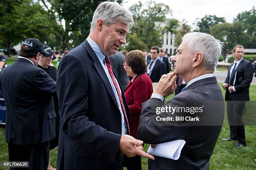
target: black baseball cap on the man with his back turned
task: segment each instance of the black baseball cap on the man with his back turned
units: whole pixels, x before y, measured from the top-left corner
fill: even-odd
[[[22,45],[27,45],[30,47],[30,50],[26,52],[43,53],[44,55],[50,54],[48,51],[44,50],[44,44],[36,38],[28,38],[25,41],[23,41]]]

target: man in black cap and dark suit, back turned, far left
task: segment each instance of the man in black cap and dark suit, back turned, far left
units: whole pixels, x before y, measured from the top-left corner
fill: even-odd
[[[50,55],[44,48],[38,39],[26,39],[17,60],[0,72],[9,161],[29,161],[31,170],[47,169],[50,140],[55,138],[56,81],[36,66]]]

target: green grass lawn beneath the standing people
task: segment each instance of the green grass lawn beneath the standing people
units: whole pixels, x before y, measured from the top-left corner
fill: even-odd
[[[9,62],[8,60],[7,62]],[[53,63],[56,66],[56,61],[53,61]],[[222,87],[222,83],[219,83],[219,85]],[[223,89],[222,92],[224,96],[225,91]],[[166,100],[173,96],[174,94],[166,97]],[[256,85],[251,85],[250,87],[250,99],[251,101],[256,101]],[[250,112],[256,114],[255,110]],[[227,125],[222,127],[214,152],[210,158],[210,170],[256,170],[256,162],[253,162],[253,159],[256,159],[256,126],[246,126],[245,130],[247,146],[235,148],[235,141],[227,142],[222,140],[222,138],[229,136],[229,127]],[[146,144],[144,150],[146,151],[148,147],[149,145]],[[53,167],[56,167],[56,160],[57,148],[52,150],[51,154],[50,161]],[[5,142],[5,129],[3,126],[0,127],[0,161],[8,161],[8,147]],[[147,160],[142,158],[142,169],[147,170],[147,167]],[[0,167],[0,170],[5,169]]]

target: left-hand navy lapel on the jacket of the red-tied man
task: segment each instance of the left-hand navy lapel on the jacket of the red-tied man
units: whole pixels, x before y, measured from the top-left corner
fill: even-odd
[[[98,72],[98,74],[100,75],[100,78],[102,79],[106,89],[108,90],[108,93],[110,94],[111,98],[113,99],[113,101],[115,102],[115,105],[118,107],[118,103],[115,99],[115,94],[113,92],[113,89],[110,85],[109,79],[107,74],[105,73],[105,70],[102,68],[102,65],[97,57],[97,55],[95,54],[95,52],[92,50],[92,47],[90,46],[90,44],[88,43],[87,40],[84,41],[84,43],[82,43],[82,46],[84,46],[84,48],[88,51],[88,53],[90,54],[90,56],[93,59],[93,65],[95,66],[96,71]],[[118,82],[119,83],[119,82]],[[119,84],[120,86],[120,84]]]

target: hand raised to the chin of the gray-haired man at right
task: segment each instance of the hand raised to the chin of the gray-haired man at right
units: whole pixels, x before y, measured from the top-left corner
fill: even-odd
[[[161,76],[158,84],[156,85],[156,93],[161,94],[164,97],[173,94],[176,89],[176,79],[178,78],[177,74],[168,73]]]

